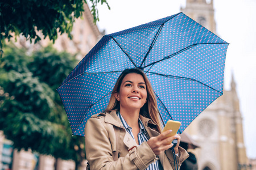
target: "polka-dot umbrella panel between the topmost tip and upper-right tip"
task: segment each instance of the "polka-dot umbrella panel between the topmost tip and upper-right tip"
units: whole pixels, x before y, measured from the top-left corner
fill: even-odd
[[[180,13],[162,27],[144,66],[172,57],[196,44],[226,43],[208,29]]]

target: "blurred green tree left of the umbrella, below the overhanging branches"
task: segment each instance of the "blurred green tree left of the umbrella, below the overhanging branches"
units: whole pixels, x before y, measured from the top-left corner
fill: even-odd
[[[84,138],[72,137],[56,88],[75,67],[75,56],[52,46],[33,52],[5,47],[0,64],[0,130],[18,150],[24,148],[73,159],[85,158]]]

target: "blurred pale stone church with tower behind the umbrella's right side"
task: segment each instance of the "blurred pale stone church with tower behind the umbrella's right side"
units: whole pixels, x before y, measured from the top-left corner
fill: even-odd
[[[216,34],[213,0],[187,0],[181,12]],[[200,145],[190,150],[199,170],[246,169],[242,116],[232,75],[230,90],[215,100],[185,129]]]

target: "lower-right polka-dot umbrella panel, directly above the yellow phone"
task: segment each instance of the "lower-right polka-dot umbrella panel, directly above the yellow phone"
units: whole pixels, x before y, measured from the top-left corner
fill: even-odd
[[[222,95],[192,79],[148,73],[163,121],[181,122],[180,133],[215,99]]]

